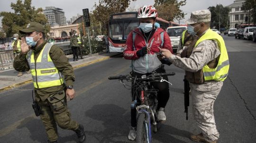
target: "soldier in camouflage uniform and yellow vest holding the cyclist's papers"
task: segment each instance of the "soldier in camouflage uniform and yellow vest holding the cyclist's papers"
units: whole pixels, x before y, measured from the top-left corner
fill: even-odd
[[[171,54],[162,49],[162,55],[175,66],[186,72],[186,79],[190,82],[193,115],[197,125],[201,128],[199,135],[191,135],[193,141],[217,143],[219,132],[213,115],[213,105],[223,81],[229,71],[228,53],[224,40],[210,30],[210,11],[198,10],[191,14],[188,33],[193,36],[187,45],[186,58]]]

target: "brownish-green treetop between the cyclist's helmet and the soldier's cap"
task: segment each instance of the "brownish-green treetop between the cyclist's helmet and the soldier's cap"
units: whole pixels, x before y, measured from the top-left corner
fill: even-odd
[[[155,8],[158,11],[158,17],[167,21],[184,18],[184,13],[180,9],[186,4],[186,0],[155,0]]]

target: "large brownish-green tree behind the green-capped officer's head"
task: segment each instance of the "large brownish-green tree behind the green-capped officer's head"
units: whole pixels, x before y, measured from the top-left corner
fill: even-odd
[[[2,28],[6,33],[6,37],[11,37],[12,34],[18,33],[19,29],[26,28],[31,21],[41,23],[46,26],[46,33],[50,31],[50,25],[46,25],[47,19],[43,14],[42,8],[35,8],[31,6],[31,0],[17,0],[16,3],[10,4],[13,12],[0,12],[2,18]]]

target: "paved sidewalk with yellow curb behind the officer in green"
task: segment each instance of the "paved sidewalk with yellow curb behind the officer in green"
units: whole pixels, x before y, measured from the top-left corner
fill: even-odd
[[[83,59],[79,59],[78,61],[73,61],[73,55],[68,55],[68,59],[73,68],[84,67],[102,60],[110,59],[112,56],[116,56],[120,53],[96,53],[92,54],[91,57],[83,56]],[[13,87],[27,84],[32,82],[31,74],[27,74],[27,72],[23,72],[23,76],[17,76],[18,71],[15,69],[9,69],[5,71],[0,71],[0,92],[4,90],[9,90]]]

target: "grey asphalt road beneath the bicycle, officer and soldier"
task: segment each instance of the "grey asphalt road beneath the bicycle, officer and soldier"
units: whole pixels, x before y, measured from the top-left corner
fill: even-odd
[[[230,70],[214,105],[218,143],[256,143],[256,42],[224,36],[229,51]],[[189,108],[183,113],[182,69],[166,67],[170,99],[167,121],[153,134],[153,143],[194,143],[189,135],[200,130]],[[130,91],[108,76],[126,75],[130,61],[121,56],[75,70],[76,98],[68,102],[72,118],[85,127],[86,143],[135,143],[128,141]],[[32,110],[32,84],[0,93],[0,143],[46,143],[40,118]],[[76,143],[73,131],[58,129],[59,143]]]

